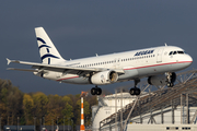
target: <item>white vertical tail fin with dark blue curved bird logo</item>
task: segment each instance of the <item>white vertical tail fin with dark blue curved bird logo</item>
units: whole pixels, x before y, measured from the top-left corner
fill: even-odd
[[[65,61],[43,27],[36,27],[35,33],[43,63],[54,64]]]

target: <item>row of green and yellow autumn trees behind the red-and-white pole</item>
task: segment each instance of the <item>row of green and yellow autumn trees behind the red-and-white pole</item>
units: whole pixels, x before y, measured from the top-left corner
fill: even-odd
[[[91,106],[96,105],[95,96],[84,97],[84,121],[90,124]],[[77,95],[45,95],[44,93],[22,93],[9,80],[0,80],[1,123],[18,124],[80,124],[81,99]],[[44,121],[45,120],[45,121]]]

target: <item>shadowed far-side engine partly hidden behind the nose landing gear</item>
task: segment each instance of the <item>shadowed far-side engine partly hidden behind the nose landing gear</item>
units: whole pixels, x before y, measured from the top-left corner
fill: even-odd
[[[176,73],[172,72],[171,83],[174,83],[175,81],[176,81]],[[148,83],[150,85],[157,85],[157,86],[166,85],[167,82],[169,82],[169,80],[165,74],[149,76],[149,79],[148,79]]]

